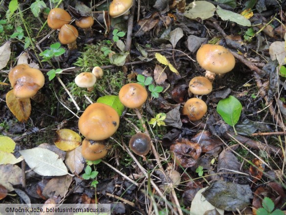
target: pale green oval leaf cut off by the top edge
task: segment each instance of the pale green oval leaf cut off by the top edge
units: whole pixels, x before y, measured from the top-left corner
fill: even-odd
[[[193,1],[185,7],[184,16],[189,19],[200,18],[202,20],[215,15],[216,6],[204,0]]]

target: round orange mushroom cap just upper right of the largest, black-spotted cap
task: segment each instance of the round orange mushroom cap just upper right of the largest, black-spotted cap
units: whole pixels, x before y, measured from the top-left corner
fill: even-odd
[[[125,84],[119,91],[119,100],[128,108],[140,108],[147,100],[148,93],[145,87],[138,83]]]

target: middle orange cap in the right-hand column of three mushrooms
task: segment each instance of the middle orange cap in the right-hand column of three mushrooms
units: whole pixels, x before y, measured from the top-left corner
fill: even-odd
[[[189,89],[192,94],[195,95],[206,95],[212,92],[213,84],[212,82],[203,76],[194,77],[190,80]]]

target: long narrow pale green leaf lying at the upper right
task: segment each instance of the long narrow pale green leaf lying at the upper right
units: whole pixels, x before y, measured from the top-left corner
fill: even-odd
[[[224,21],[229,20],[230,22],[234,22],[242,26],[251,26],[250,21],[244,18],[242,15],[229,10],[224,10],[219,5],[217,6],[217,14],[219,15],[220,19]]]

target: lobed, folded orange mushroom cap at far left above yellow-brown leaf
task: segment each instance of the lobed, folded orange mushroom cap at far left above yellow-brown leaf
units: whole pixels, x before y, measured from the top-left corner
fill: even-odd
[[[8,74],[13,87],[13,93],[18,98],[30,98],[35,96],[44,86],[44,75],[40,70],[29,67],[27,64],[19,64]]]

